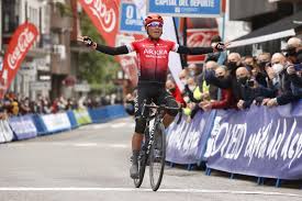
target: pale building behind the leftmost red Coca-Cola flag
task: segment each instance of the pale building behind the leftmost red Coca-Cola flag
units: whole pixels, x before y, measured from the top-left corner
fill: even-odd
[[[10,86],[10,91],[31,99],[38,94],[47,96],[51,91],[51,77],[41,80],[40,71],[49,71],[49,12],[47,0],[2,0],[2,44],[8,46],[12,34],[24,22],[33,23],[38,30],[38,37],[26,54],[25,59]],[[43,87],[40,87],[43,86]]]

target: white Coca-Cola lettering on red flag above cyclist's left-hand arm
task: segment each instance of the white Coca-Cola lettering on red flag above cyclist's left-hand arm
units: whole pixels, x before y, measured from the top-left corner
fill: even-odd
[[[105,32],[110,33],[114,30],[118,16],[113,8],[108,8],[103,0],[85,0],[83,2],[89,5]]]

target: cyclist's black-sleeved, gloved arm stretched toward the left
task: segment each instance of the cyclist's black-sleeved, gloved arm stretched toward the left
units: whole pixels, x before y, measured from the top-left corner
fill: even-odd
[[[82,42],[86,46],[91,47],[98,52],[108,54],[108,55],[123,55],[130,53],[126,45],[119,47],[110,47],[107,45],[97,44],[88,36],[78,37],[78,41]]]

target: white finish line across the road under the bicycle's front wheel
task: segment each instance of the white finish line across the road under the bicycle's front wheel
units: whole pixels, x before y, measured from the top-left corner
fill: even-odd
[[[135,188],[33,188],[33,187],[1,187],[0,191],[114,191],[114,192],[150,192],[152,189]],[[228,193],[228,194],[261,194],[261,196],[284,196],[302,198],[301,194],[281,193],[270,191],[232,191],[232,190],[206,190],[206,189],[159,189],[158,192],[176,193]]]

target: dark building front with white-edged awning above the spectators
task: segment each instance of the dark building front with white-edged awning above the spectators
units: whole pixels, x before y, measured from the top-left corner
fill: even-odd
[[[280,52],[290,36],[302,32],[301,0],[230,0],[230,20],[246,21],[250,33],[237,38],[233,51],[243,55]]]

